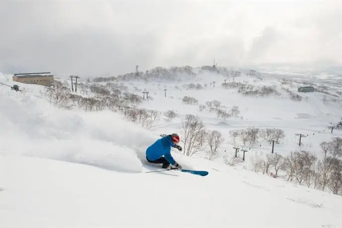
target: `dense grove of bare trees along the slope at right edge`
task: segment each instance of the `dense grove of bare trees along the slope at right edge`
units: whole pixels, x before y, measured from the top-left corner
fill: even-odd
[[[252,158],[252,167],[254,171],[267,173],[270,166],[273,166],[275,175],[278,170],[284,170],[288,181],[323,191],[329,188],[333,194],[342,194],[341,145],[339,138],[321,143],[324,158],[319,161],[309,151],[295,151],[286,158],[278,154],[268,155],[266,161]]]

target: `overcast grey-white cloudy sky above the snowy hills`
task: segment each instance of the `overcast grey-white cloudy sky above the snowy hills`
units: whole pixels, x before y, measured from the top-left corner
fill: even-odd
[[[1,0],[0,72],[342,63],[342,2]]]

